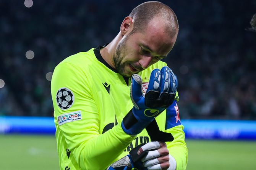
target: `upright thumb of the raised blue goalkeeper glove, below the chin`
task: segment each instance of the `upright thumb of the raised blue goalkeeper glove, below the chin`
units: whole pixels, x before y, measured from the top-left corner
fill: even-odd
[[[136,102],[138,102],[142,96],[142,91],[141,91],[141,76],[134,74],[131,77],[131,91],[130,91],[130,97],[131,101],[133,102],[133,105],[135,106],[136,109],[139,109],[138,105]]]

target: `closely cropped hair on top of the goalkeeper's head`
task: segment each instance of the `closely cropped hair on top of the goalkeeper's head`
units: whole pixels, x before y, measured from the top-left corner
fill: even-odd
[[[149,21],[154,17],[162,17],[166,20],[167,31],[173,34],[173,30],[178,32],[178,19],[173,10],[162,2],[149,1],[144,2],[134,8],[129,16],[133,19],[133,30],[131,34],[135,32],[143,32]]]

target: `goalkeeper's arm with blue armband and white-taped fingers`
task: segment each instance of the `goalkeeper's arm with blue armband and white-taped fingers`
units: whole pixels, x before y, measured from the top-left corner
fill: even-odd
[[[143,157],[141,161],[143,162],[144,167],[147,167],[148,170],[186,169],[188,160],[188,150],[186,148],[183,126],[180,123],[177,100],[175,100],[173,104],[169,106],[169,108],[167,108],[166,120],[167,130],[165,130],[165,132],[172,133],[174,140],[167,140],[171,142],[166,142],[165,144],[164,142],[161,142],[159,136],[153,134],[156,135],[155,138],[158,138],[158,141],[147,143],[146,145],[143,145],[141,146],[141,148],[139,148],[138,154],[145,153],[145,151],[147,151],[146,156]],[[152,128],[150,130],[154,131],[154,129]]]

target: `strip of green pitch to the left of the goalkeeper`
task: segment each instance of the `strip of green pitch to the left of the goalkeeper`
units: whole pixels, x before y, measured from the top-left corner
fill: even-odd
[[[1,170],[58,170],[55,136],[0,135]]]

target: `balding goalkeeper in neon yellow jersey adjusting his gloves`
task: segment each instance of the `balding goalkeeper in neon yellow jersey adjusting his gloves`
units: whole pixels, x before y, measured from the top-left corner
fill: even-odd
[[[171,8],[145,2],[125,17],[112,42],[57,65],[51,94],[61,170],[186,168],[177,77],[160,61],[177,34]],[[129,155],[136,146],[139,168]]]

